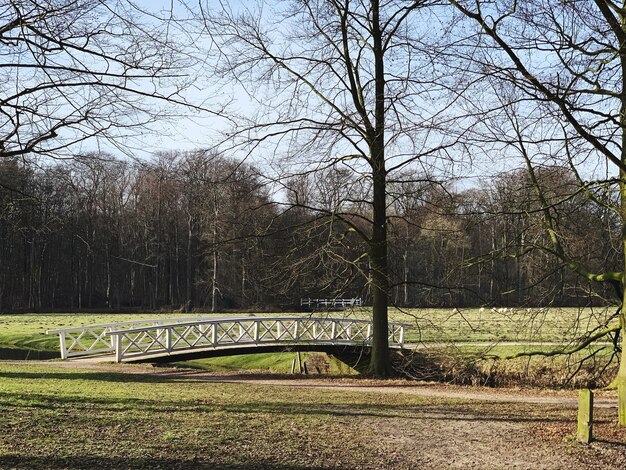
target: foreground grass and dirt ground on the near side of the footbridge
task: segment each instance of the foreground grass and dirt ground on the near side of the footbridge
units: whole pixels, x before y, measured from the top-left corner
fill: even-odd
[[[568,437],[575,409],[558,404],[384,392],[393,382],[377,392],[358,390],[358,382],[357,389],[342,391],[341,382],[260,385],[145,366],[106,367],[0,363],[0,468],[626,464],[619,444],[626,436],[611,424],[614,410],[598,410],[602,441],[586,447]],[[402,382],[399,387],[406,390]]]

